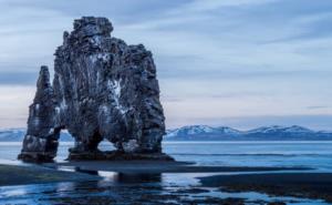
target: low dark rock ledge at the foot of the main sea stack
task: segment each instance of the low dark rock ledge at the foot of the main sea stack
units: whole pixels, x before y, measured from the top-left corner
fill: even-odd
[[[165,153],[71,152],[68,161],[175,161]]]

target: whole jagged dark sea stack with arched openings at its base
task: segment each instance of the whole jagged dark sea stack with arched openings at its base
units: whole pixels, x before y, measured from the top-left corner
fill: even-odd
[[[165,117],[152,53],[111,37],[106,18],[83,17],[42,66],[19,158],[52,161],[61,130],[75,139],[70,160],[162,158]],[[102,153],[107,140],[116,152]]]

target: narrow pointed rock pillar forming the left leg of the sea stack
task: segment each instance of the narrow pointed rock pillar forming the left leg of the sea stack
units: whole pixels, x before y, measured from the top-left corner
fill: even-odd
[[[48,162],[55,157],[60,130],[55,131],[54,127],[54,105],[49,69],[41,66],[37,93],[29,110],[28,132],[19,158]]]

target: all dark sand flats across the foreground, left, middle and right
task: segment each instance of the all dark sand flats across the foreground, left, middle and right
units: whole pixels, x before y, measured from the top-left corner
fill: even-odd
[[[76,172],[64,172],[68,167],[74,167]],[[259,192],[274,196],[294,196],[302,198],[325,199],[332,202],[332,174],[330,173],[300,173],[308,171],[305,167],[245,167],[245,166],[198,166],[185,162],[152,162],[152,161],[132,161],[132,162],[66,162],[50,163],[41,165],[0,165],[0,186],[8,185],[28,185],[58,182],[97,182],[102,177],[95,175],[97,171],[137,174],[158,174],[162,173],[210,173],[211,176],[199,177],[200,185],[179,188],[167,194],[155,195],[154,192],[146,192],[139,199],[144,203],[163,202],[164,199],[175,199],[180,203],[196,204],[245,204],[246,198],[219,198],[205,196],[204,199],[191,198],[184,199],[183,196],[209,192],[206,188],[217,187],[217,192]],[[269,171],[293,171],[299,173],[273,173],[259,174],[259,172]],[[92,174],[84,174],[84,173]],[[255,172],[256,174],[248,174]],[[226,175],[219,175],[225,173]],[[243,173],[243,174],[241,174]],[[141,174],[141,175],[139,175]],[[231,174],[231,175],[229,175]],[[151,178],[149,178],[151,180]],[[129,181],[132,182],[132,181]],[[137,185],[138,186],[138,185]],[[139,185],[141,186],[141,185]],[[125,188],[126,186],[123,186]],[[95,192],[105,192],[105,188],[95,189]],[[107,187],[107,188],[112,188]],[[117,187],[118,188],[118,187]],[[146,187],[148,188],[148,187]],[[139,188],[138,188],[139,189]],[[143,192],[143,191],[142,191]],[[133,195],[135,196],[135,195]],[[104,197],[104,199],[102,199]],[[108,202],[110,197],[92,197],[91,202]],[[154,198],[155,197],[155,198]],[[59,197],[61,202],[74,203],[73,198]],[[85,197],[75,201],[86,202]],[[102,201],[101,201],[102,199]],[[113,198],[114,199],[114,198]],[[113,201],[112,202],[116,202]],[[111,203],[111,201],[110,201]],[[266,203],[264,201],[257,203]],[[282,204],[282,202],[280,201]],[[167,204],[167,203],[166,203]],[[266,203],[268,204],[268,203]]]

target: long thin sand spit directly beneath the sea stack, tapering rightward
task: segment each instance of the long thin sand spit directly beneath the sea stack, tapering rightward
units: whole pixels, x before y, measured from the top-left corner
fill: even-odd
[[[220,173],[220,172],[267,172],[267,171],[308,171],[308,167],[247,167],[247,166],[200,166],[188,162],[160,161],[82,161],[44,164],[48,167],[75,167],[86,171],[120,173]]]

